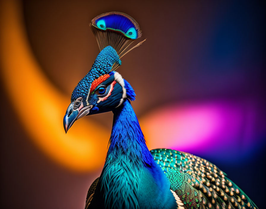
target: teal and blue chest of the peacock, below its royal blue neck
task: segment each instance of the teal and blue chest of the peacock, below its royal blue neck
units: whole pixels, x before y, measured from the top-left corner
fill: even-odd
[[[170,182],[156,164],[139,169],[121,162],[110,165],[102,176],[90,208],[94,203],[99,208],[99,202],[102,208],[177,208]]]

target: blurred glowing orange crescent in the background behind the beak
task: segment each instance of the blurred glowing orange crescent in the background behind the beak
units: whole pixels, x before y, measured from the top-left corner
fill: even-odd
[[[51,159],[76,171],[102,167],[110,133],[93,121],[79,120],[65,134],[63,117],[70,95],[50,83],[37,63],[19,1],[1,1],[2,82],[30,138]],[[86,136],[86,137],[84,137]]]

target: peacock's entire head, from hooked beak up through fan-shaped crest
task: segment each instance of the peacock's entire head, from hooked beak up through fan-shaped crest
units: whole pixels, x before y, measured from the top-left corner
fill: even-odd
[[[145,41],[132,44],[141,37],[139,25],[129,15],[108,12],[91,20],[90,27],[101,51],[72,93],[64,116],[66,132],[77,119],[113,111],[125,99],[135,99],[133,88],[115,70],[121,65],[122,56]]]

